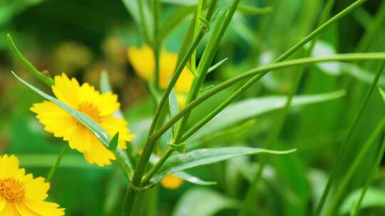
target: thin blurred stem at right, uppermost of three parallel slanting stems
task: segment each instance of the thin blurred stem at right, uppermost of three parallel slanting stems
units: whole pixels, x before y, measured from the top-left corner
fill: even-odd
[[[383,69],[384,69],[384,63],[381,63],[379,70],[377,70],[376,76],[374,77],[373,82],[371,82],[371,86],[369,87],[368,92],[366,92],[364,100],[361,103],[361,106],[359,107],[359,111],[357,112],[356,117],[354,118],[354,121],[349,128],[349,132],[346,138],[344,139],[342,146],[339,148],[339,152],[336,157],[337,161],[335,161],[333,165],[332,173],[330,174],[329,179],[327,180],[327,185],[324,189],[324,192],[322,193],[321,200],[319,200],[319,204],[314,212],[314,215],[319,215],[321,213],[321,210],[324,206],[324,202],[327,199],[327,195],[329,195],[330,189],[332,189],[332,183],[334,182],[336,175],[339,171],[339,166],[341,164],[339,162],[344,161],[345,151],[347,151],[346,149],[351,139],[351,136],[353,135],[354,129],[356,129],[356,125],[358,124],[358,121],[362,113],[364,112],[364,108],[366,107],[366,104],[369,101],[369,98],[371,97],[371,93],[374,91],[374,88],[376,87],[377,82],[379,82],[379,77],[381,77],[381,73]]]

